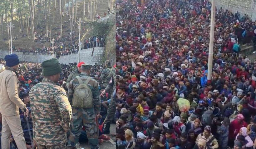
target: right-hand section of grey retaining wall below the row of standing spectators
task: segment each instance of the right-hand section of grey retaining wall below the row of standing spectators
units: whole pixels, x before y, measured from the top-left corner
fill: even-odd
[[[103,47],[95,47],[93,56],[91,56],[92,49],[83,49],[80,52],[80,61],[83,61],[87,64],[94,65],[95,63],[97,64],[102,64],[104,62],[104,54],[105,50]],[[60,56],[59,58],[59,63],[60,64],[68,64],[68,63],[74,63],[78,62],[78,54],[69,54],[66,56]]]

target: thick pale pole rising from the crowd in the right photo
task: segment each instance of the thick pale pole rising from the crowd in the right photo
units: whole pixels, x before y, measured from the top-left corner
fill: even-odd
[[[213,59],[213,41],[214,41],[214,24],[215,24],[215,3],[212,0],[211,8],[211,29],[210,29],[210,43],[209,43],[209,55],[208,55],[208,74],[207,82],[211,82],[212,79],[212,59]]]

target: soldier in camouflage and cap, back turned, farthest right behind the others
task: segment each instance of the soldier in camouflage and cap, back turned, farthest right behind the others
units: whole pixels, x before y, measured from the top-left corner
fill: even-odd
[[[102,71],[100,78],[103,82],[103,86],[106,88],[109,84],[109,81],[112,75],[116,72],[116,70],[111,66],[108,60],[106,61],[105,65],[106,65],[106,68]],[[109,93],[111,94],[112,90],[110,90]]]

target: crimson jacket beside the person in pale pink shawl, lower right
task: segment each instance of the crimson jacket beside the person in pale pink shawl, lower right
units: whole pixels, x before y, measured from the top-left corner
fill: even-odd
[[[229,125],[229,139],[235,139],[242,127],[247,127],[247,123],[245,121],[242,123],[239,123],[237,119],[232,121]]]

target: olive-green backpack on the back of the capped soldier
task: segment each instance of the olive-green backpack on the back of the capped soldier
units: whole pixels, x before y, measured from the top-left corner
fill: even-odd
[[[93,108],[91,88],[87,85],[92,78],[87,76],[84,83],[79,76],[77,76],[76,79],[78,80],[79,85],[74,90],[72,106],[81,109]]]

